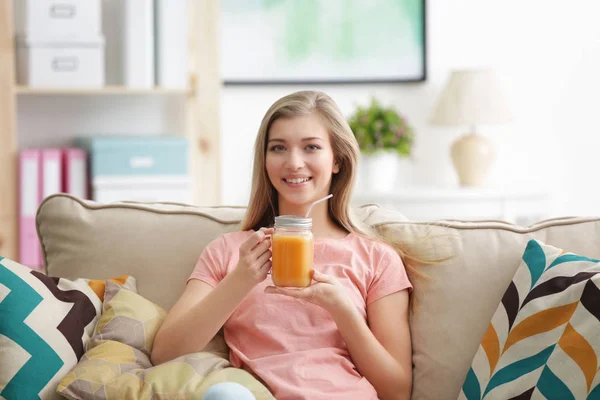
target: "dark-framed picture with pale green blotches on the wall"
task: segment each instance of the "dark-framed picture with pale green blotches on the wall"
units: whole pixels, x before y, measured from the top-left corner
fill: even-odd
[[[418,82],[425,0],[221,0],[225,84]]]

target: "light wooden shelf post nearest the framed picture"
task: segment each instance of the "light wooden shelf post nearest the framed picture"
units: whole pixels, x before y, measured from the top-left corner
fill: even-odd
[[[220,205],[219,0],[188,0],[191,92],[186,136],[191,146],[194,204]]]

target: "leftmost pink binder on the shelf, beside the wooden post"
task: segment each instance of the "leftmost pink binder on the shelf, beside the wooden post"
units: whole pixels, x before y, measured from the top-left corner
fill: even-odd
[[[42,254],[35,215],[40,201],[40,165],[38,150],[19,153],[19,262],[38,269],[42,267]]]

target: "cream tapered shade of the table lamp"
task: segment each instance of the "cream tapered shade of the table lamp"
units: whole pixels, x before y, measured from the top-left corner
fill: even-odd
[[[509,122],[510,112],[492,70],[456,70],[434,110],[434,125],[493,125]]]

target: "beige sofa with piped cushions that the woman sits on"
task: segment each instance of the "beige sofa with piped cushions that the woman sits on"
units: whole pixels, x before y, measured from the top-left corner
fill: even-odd
[[[356,209],[383,234],[425,258],[448,260],[411,276],[415,307],[413,399],[456,399],[479,342],[529,239],[600,258],[600,218],[562,218],[520,227],[499,221],[409,222],[376,205]],[[102,205],[68,195],[46,199],[37,215],[52,276],[109,278],[124,273],[140,294],[169,308],[204,246],[239,228],[243,208],[177,204]],[[208,351],[225,351],[221,337]]]

